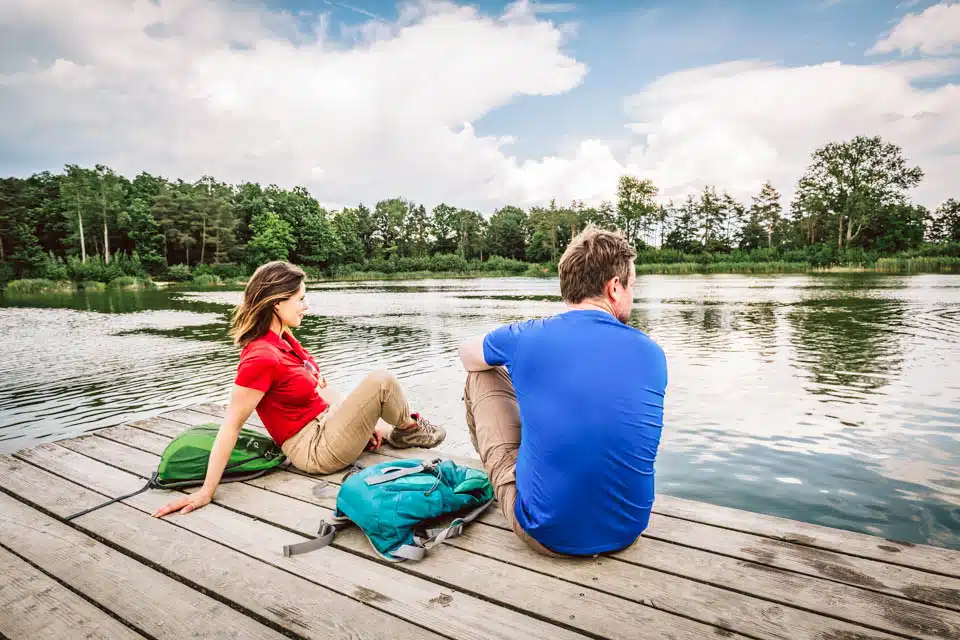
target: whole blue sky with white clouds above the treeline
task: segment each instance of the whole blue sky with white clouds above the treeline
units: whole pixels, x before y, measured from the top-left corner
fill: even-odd
[[[0,175],[106,164],[489,215],[715,185],[786,205],[880,135],[960,197],[960,2],[4,0]]]

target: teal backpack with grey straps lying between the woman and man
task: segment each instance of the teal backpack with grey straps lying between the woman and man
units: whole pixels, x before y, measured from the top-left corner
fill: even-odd
[[[390,460],[366,469],[354,465],[337,494],[333,524],[321,522],[316,538],[284,545],[283,555],[325,547],[339,526],[352,522],[384,560],[422,560],[430,549],[460,535],[492,502],[487,474],[450,460]],[[450,517],[452,522],[440,526]]]

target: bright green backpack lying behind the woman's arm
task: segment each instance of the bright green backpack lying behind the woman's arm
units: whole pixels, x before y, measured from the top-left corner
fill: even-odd
[[[217,423],[207,422],[186,429],[164,449],[160,455],[160,464],[147,480],[147,484],[133,493],[113,498],[68,516],[66,519],[71,520],[114,502],[132,498],[147,489],[177,489],[202,485],[207,475],[210,451],[213,449],[219,428]],[[250,480],[279,467],[285,461],[286,457],[280,446],[266,432],[243,427],[240,429],[237,443],[230,452],[230,459],[223,470],[220,482]]]

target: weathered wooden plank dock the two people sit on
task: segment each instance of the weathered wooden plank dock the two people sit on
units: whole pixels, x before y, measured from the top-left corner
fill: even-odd
[[[378,561],[355,528],[284,557],[335,504],[292,470],[186,516],[152,518],[171,494],[151,490],[65,520],[142,486],[173,436],[223,410],[0,456],[0,635],[960,639],[960,552],[662,495],[640,541],[576,560],[529,551],[496,509],[419,563]],[[399,455],[434,454],[365,458]]]

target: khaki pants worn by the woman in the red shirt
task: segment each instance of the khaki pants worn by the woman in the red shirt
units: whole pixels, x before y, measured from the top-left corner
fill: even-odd
[[[301,471],[334,473],[360,457],[381,418],[393,426],[405,425],[410,407],[397,379],[374,371],[343,402],[308,422],[280,448]]]

